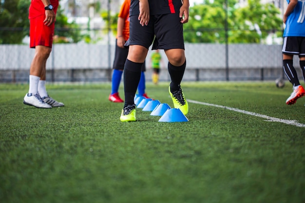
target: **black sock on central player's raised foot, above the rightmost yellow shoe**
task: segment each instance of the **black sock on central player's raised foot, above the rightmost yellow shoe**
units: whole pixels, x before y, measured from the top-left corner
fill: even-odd
[[[169,74],[171,76],[171,92],[176,92],[180,90],[180,83],[182,81],[185,67],[186,67],[187,61],[182,64],[182,66],[173,66],[170,62],[168,64],[168,70]]]

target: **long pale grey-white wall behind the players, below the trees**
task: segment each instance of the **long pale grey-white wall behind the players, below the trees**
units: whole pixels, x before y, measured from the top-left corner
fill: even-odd
[[[185,44],[185,48],[187,68],[226,68],[224,44]],[[230,44],[228,50],[229,68],[282,68],[281,45]],[[166,55],[160,53],[167,64]],[[28,45],[0,45],[0,70],[29,70],[34,54]],[[109,69],[113,60],[114,45],[55,44],[47,69]]]

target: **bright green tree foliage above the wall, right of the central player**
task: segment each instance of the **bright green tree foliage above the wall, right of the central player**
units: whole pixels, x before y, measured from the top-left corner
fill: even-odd
[[[206,0],[190,8],[185,41],[225,43],[227,22],[229,43],[259,43],[280,28],[279,13],[273,4],[257,0],[248,0],[246,7],[238,7],[237,0]]]

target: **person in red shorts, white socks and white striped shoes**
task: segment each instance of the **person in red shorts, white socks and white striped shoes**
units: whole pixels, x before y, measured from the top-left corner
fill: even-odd
[[[30,47],[35,55],[30,67],[29,92],[23,103],[37,108],[62,107],[46,91],[46,62],[52,51],[58,0],[31,0],[29,7]]]

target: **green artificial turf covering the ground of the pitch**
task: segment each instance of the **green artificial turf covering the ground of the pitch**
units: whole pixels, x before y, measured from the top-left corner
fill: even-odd
[[[182,88],[190,100],[305,124],[305,99],[285,104],[287,82]],[[191,102],[189,122],[136,109],[122,123],[110,83],[47,84],[65,104],[52,109],[22,104],[27,90],[0,84],[1,203],[305,202],[305,127]],[[173,107],[168,83],[147,93]]]

